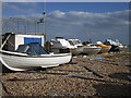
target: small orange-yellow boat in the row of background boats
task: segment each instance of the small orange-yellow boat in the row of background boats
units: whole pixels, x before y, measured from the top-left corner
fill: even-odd
[[[97,45],[95,45],[95,46],[102,47],[102,50],[99,51],[100,53],[106,53],[106,52],[108,52],[108,51],[110,50],[110,48],[111,48],[111,46],[106,46],[106,45],[104,45],[102,41],[97,41],[96,44],[97,44]]]

